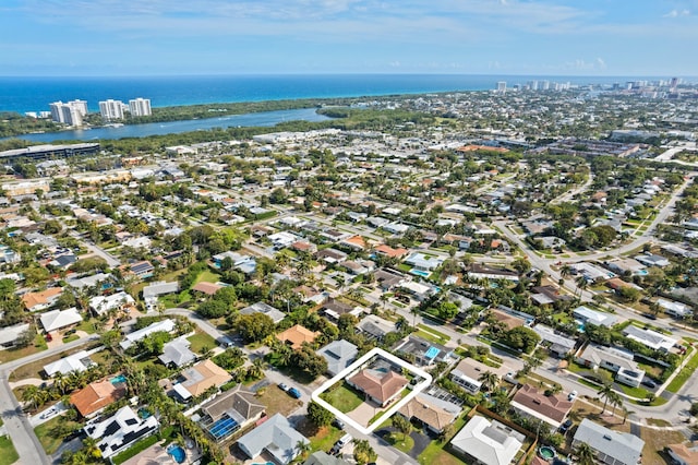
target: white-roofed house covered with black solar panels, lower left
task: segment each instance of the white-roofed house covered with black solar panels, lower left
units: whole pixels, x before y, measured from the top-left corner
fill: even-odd
[[[143,438],[155,433],[158,429],[155,416],[141,418],[130,406],[121,407],[117,413],[99,421],[89,421],[83,430],[97,441],[103,458],[125,450]]]

